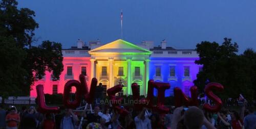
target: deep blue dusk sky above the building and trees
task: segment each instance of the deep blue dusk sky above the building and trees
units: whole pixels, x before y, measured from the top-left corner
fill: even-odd
[[[168,46],[193,49],[201,41],[223,42],[232,38],[239,53],[256,50],[255,0],[19,0],[19,8],[35,11],[39,28],[35,37],[60,42],[63,48],[77,39],[99,39],[108,43],[121,37],[120,10],[123,10],[123,39],[135,44],[142,40],[166,39]]]

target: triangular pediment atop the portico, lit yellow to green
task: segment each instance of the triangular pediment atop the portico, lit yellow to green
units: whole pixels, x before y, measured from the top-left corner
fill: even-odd
[[[144,49],[122,39],[118,39],[89,51],[89,54],[150,55],[151,53],[152,52],[150,50]]]

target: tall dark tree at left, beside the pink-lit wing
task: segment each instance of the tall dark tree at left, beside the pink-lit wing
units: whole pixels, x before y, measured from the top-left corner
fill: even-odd
[[[17,9],[15,0],[0,3],[0,95],[29,95],[30,86],[52,72],[52,79],[58,80],[62,65],[61,44],[43,41],[33,46],[34,30],[38,23],[34,11]],[[2,83],[3,82],[3,83]]]

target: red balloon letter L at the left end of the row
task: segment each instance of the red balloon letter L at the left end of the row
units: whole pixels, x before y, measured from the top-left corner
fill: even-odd
[[[59,107],[48,107],[45,102],[44,86],[36,86],[38,111],[40,113],[58,113]]]

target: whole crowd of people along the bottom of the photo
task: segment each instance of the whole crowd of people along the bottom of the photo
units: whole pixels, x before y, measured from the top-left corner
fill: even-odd
[[[159,114],[152,109],[140,111],[129,108],[129,114],[122,116],[111,107],[95,106],[93,112],[85,109],[74,112],[62,110],[59,114],[41,114],[35,107],[17,111],[11,106],[4,110],[0,106],[0,129],[77,129],[77,128],[187,128],[187,129],[252,129],[256,128],[256,113],[253,107],[242,106],[240,113],[222,109],[217,113],[206,112],[198,107],[170,107],[167,114]],[[81,118],[83,117],[83,120]]]

